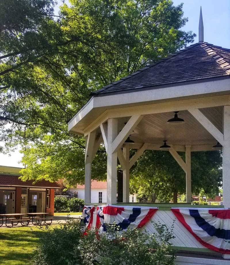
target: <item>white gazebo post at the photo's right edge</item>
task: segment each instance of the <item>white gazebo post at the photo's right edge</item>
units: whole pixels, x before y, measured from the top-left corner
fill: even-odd
[[[230,207],[230,106],[224,106],[223,204]]]

